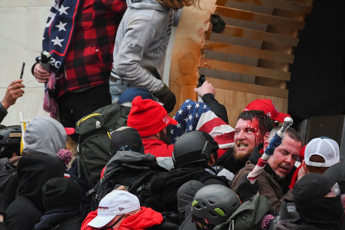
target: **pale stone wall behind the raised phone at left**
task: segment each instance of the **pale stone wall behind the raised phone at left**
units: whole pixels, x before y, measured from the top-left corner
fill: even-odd
[[[25,94],[1,124],[19,124],[19,112],[32,120],[36,116],[49,116],[43,111],[43,84],[31,74],[31,66],[40,55],[43,30],[52,2],[49,0],[0,1],[0,100],[8,84],[19,79],[22,62],[26,63],[23,83]]]

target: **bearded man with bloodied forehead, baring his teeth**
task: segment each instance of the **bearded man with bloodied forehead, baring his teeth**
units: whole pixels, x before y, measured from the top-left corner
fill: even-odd
[[[267,140],[272,129],[272,120],[261,110],[240,113],[235,126],[235,146],[224,154],[229,156],[224,168],[236,174],[245,166],[254,148]]]

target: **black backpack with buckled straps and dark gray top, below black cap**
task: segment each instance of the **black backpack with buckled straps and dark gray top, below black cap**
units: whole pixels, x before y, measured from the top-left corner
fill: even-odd
[[[103,197],[121,185],[136,195],[141,206],[155,208],[150,202],[150,182],[168,173],[158,165],[155,156],[131,151],[120,151],[107,163],[104,176],[87,192],[91,210],[96,210]]]

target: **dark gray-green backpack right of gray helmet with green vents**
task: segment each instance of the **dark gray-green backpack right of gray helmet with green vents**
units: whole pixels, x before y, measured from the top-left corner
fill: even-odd
[[[272,212],[271,204],[266,197],[255,195],[241,206],[214,230],[256,230],[264,216]]]

